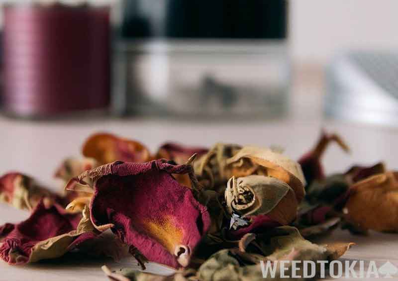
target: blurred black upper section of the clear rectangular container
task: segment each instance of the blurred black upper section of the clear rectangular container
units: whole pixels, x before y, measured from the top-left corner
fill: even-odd
[[[283,39],[286,0],[124,0],[124,38]]]

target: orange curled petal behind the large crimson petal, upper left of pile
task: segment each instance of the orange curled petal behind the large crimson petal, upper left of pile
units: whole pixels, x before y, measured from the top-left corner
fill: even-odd
[[[83,155],[94,158],[100,165],[116,160],[142,163],[152,159],[142,143],[106,133],[90,136],[83,145]]]

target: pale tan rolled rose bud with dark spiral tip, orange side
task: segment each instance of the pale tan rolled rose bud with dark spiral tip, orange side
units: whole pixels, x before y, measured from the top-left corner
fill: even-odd
[[[278,179],[265,176],[232,177],[225,189],[227,212],[248,219],[248,225],[230,231],[234,238],[268,227],[287,225],[297,215],[294,190]]]

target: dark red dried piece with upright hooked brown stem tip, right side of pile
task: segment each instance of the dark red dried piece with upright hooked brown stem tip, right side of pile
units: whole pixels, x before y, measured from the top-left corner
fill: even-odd
[[[349,147],[339,135],[327,134],[322,131],[315,147],[298,160],[307,185],[311,184],[313,180],[322,180],[325,177],[320,159],[331,142],[336,142],[345,152],[350,151]]]

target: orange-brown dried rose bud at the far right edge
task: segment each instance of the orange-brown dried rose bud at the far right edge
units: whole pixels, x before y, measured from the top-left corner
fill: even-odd
[[[398,172],[357,182],[343,209],[349,222],[361,229],[398,231]]]

